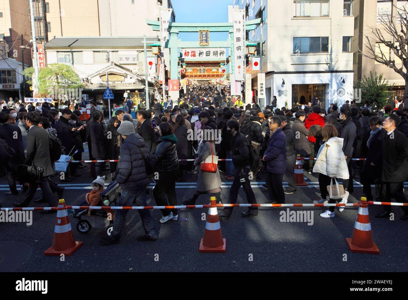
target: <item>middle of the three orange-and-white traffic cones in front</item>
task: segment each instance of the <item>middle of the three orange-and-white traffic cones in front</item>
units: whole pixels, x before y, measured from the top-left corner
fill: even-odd
[[[210,199],[207,221],[205,223],[204,238],[201,239],[201,253],[225,253],[225,238],[222,238],[220,220],[218,219],[215,197]]]

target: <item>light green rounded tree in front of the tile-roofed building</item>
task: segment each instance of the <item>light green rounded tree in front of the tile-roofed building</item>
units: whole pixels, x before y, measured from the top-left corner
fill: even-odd
[[[80,89],[84,87],[81,79],[69,64],[49,64],[38,74],[40,90],[38,93],[50,93],[58,89]],[[55,95],[56,97],[56,95]],[[61,99],[58,97],[58,106]]]

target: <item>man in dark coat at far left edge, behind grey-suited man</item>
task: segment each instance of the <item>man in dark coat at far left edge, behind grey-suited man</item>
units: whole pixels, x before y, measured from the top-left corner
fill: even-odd
[[[16,187],[17,166],[23,164],[25,160],[24,147],[22,142],[22,134],[20,127],[7,123],[9,116],[7,113],[0,112],[0,139],[5,140],[15,154],[10,158],[6,166],[7,182],[9,183],[10,191],[6,195],[18,195]],[[23,191],[27,191],[28,185],[23,185]]]

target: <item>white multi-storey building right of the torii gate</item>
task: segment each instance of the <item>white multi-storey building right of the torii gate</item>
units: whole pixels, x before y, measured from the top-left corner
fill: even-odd
[[[342,105],[352,100],[352,2],[234,1],[246,10],[248,20],[262,18],[264,22],[249,31],[246,39],[264,41],[259,45],[263,47],[262,73],[266,74],[265,104],[276,96],[278,108],[291,108],[319,96],[327,109],[330,103]],[[256,73],[252,74],[252,87],[257,89]]]

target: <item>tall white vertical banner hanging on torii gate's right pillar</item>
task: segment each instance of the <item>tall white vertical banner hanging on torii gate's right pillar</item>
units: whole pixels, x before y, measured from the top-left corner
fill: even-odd
[[[234,74],[235,80],[244,80],[245,73],[245,19],[244,9],[233,11]]]

